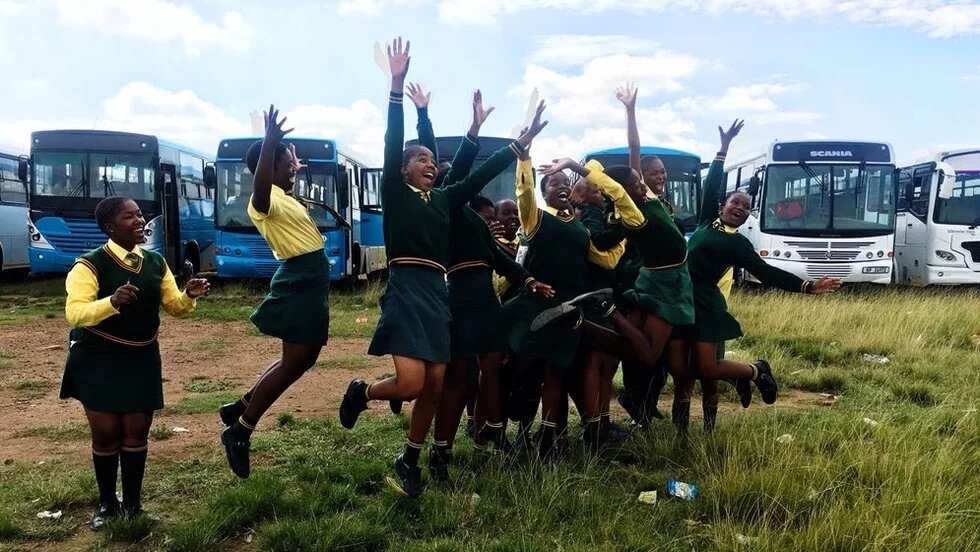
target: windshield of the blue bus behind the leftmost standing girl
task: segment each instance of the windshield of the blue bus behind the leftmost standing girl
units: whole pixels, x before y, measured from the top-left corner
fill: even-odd
[[[126,196],[156,199],[153,157],[149,154],[34,154],[34,195],[51,197]]]

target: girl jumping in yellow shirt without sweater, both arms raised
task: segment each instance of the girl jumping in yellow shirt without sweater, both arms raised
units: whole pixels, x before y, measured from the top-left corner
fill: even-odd
[[[309,210],[291,195],[301,165],[295,149],[283,143],[293,129],[283,130],[285,117],[270,105],[265,136],[245,154],[253,174],[248,216],[282,264],[272,276],[269,294],[251,315],[265,335],[282,340],[282,356],[238,401],[221,407],[227,426],[221,434],[228,465],[247,478],[252,431],[266,410],[306,373],[327,343],[330,326],[330,264],[323,236]]]

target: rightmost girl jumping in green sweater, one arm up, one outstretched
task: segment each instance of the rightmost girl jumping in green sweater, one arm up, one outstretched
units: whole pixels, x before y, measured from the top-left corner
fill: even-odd
[[[728,312],[725,295],[719,287],[719,281],[727,271],[742,268],[764,285],[813,295],[836,291],[841,285],[839,278],[804,281],[766,263],[748,238],[736,232],[749,216],[748,195],[731,192],[719,205],[725,180],[725,156],[732,139],[742,130],[742,125],[742,121],[736,120],[727,131],[718,127],[721,149],[704,180],[700,219],[688,244],[695,321],[694,324],[674,329],[667,355],[670,372],[674,375],[673,418],[682,432],[686,431],[690,419],[691,389],[695,375],[702,380],[734,379],[742,406],[748,406],[751,400],[752,386],[749,382],[755,383],[763,402],[776,402],[777,385],[768,362],[758,360],[749,365],[720,360],[719,344],[742,335],[742,328]],[[715,409],[716,413],[717,405]]]

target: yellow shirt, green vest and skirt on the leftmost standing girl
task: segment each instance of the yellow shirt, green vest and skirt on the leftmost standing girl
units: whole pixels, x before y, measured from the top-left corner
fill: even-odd
[[[138,299],[116,309],[110,298],[127,282],[139,288]],[[177,288],[164,258],[109,240],[75,260],[65,287],[72,329],[60,397],[100,412],[163,408],[160,307],[179,316],[197,304]]]

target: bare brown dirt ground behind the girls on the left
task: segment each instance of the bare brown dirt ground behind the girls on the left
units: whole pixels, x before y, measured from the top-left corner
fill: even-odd
[[[247,321],[214,322],[208,320],[176,320],[163,318],[160,331],[163,356],[164,398],[174,404],[181,398],[196,395],[184,389],[194,377],[234,384],[229,393],[244,392],[264,367],[278,357],[277,341],[250,332]],[[0,343],[12,354],[0,370],[0,461],[26,460],[41,462],[59,459],[67,463],[87,463],[88,444],[85,439],[52,440],[44,437],[15,437],[18,430],[52,426],[84,420],[81,405],[74,400],[58,398],[67,347],[68,325],[63,319],[44,320],[31,326],[0,327]],[[331,339],[320,359],[362,357],[369,359],[367,368],[317,368],[307,373],[275,404],[262,425],[274,423],[281,412],[297,417],[336,416],[336,409],[347,383],[353,377],[367,380],[392,371],[390,360],[365,355],[365,339]],[[364,366],[363,364],[361,366]],[[18,383],[42,380],[45,386],[17,389]],[[814,393],[787,391],[781,393],[777,408],[812,408],[821,397]],[[669,412],[668,397],[661,398],[661,411]],[[735,405],[722,404],[722,410],[735,410]],[[379,410],[380,411],[380,410]],[[700,408],[692,408],[694,416]],[[626,415],[613,401],[613,416]],[[154,460],[181,457],[183,451],[202,442],[218,447],[221,430],[216,413],[175,415],[158,413],[154,427],[186,428],[165,442],[151,446]],[[259,431],[262,430],[260,425]]]

